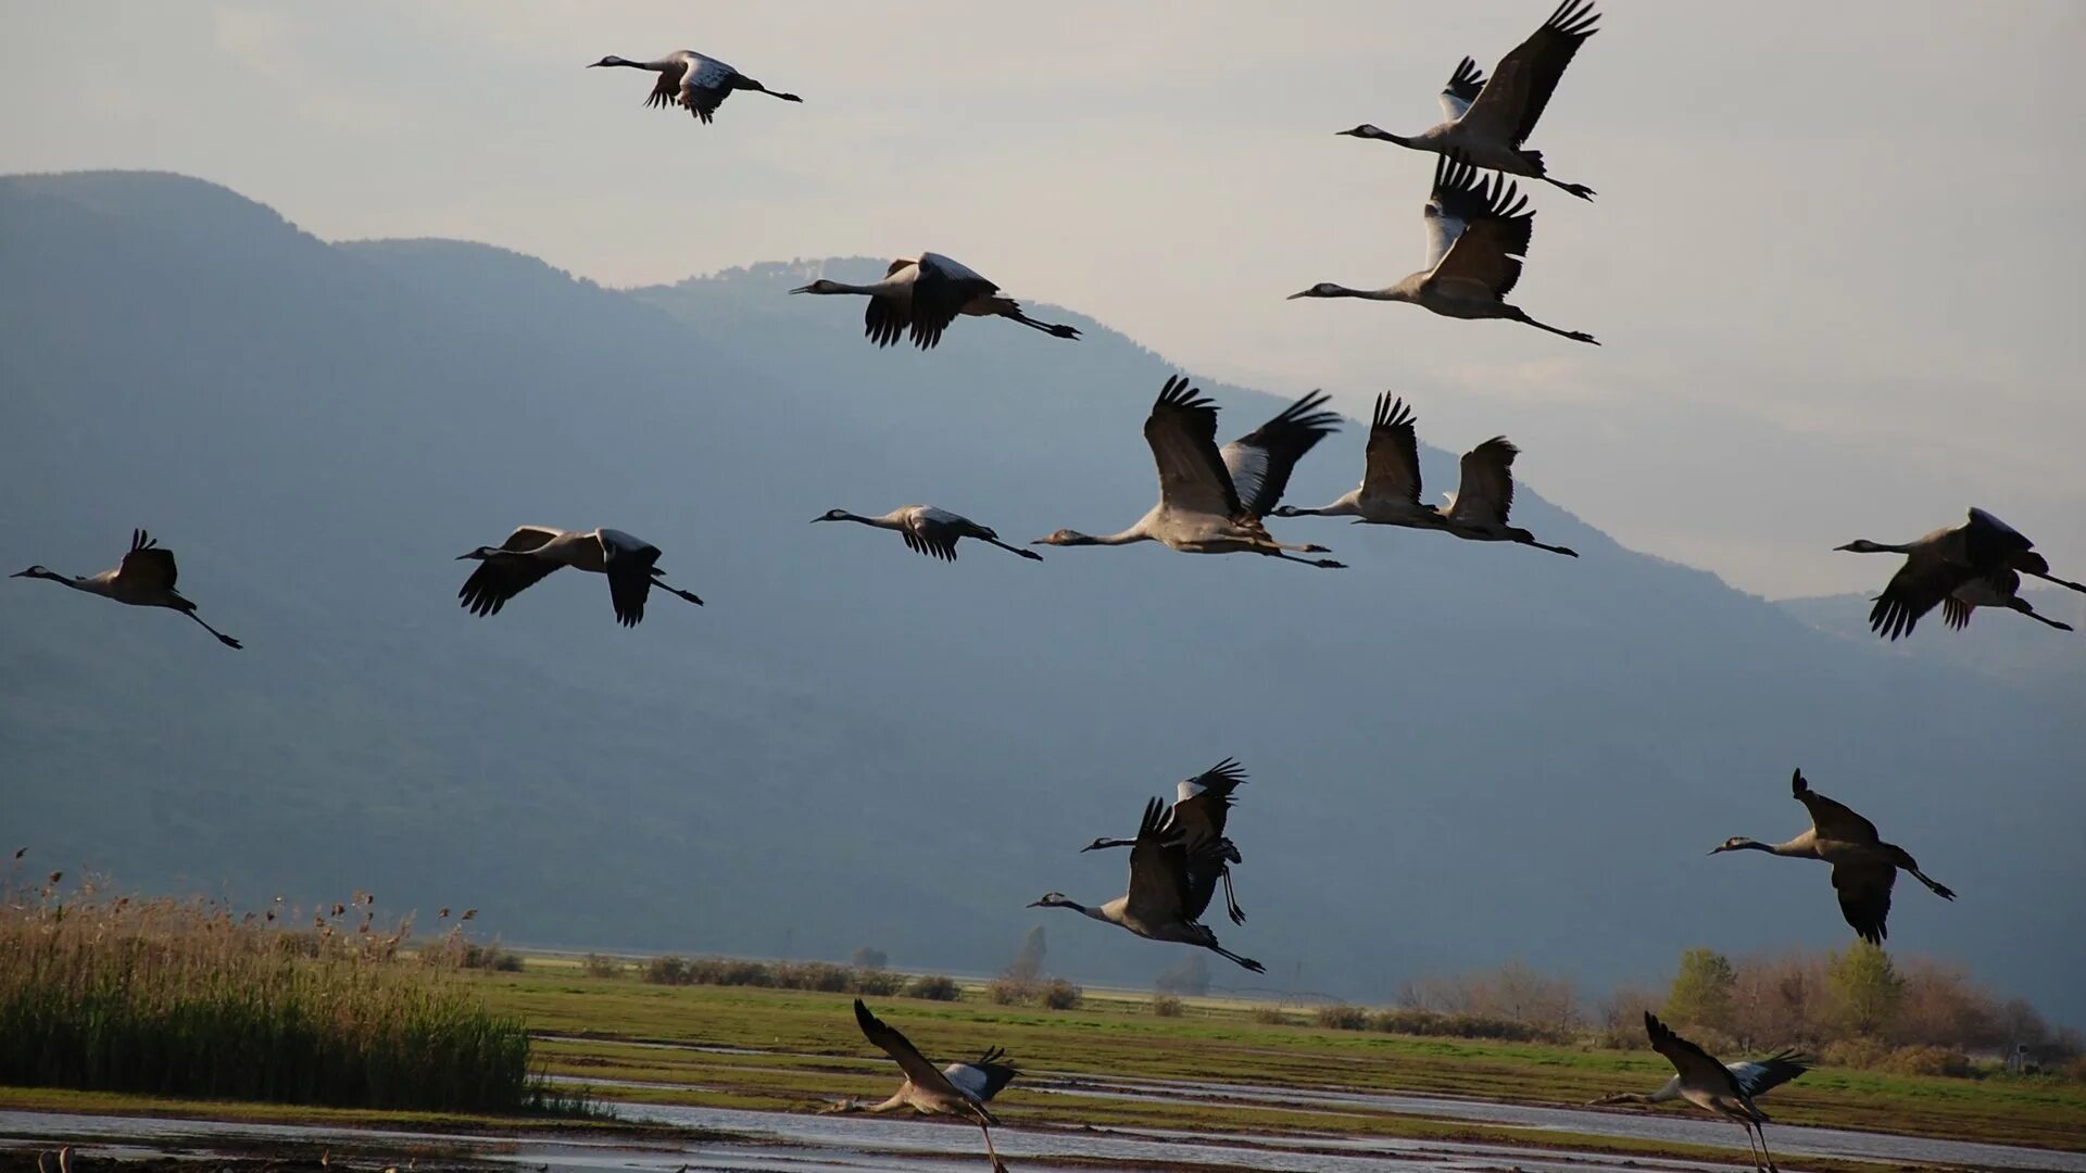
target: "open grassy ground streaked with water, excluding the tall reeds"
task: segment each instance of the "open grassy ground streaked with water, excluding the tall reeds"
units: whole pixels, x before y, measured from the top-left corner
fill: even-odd
[[[530,1025],[544,1073],[622,1102],[620,1112],[630,1123],[651,1110],[670,1119],[676,1108],[809,1115],[834,1098],[882,1098],[897,1085],[895,1067],[855,1031],[845,994],[663,987],[634,977],[584,977],[578,966],[557,960],[532,960],[524,973],[471,973],[463,981],[492,1012]],[[1308,1133],[1339,1142],[1498,1144],[1715,1163],[1731,1163],[1744,1152],[1738,1129],[1685,1106],[1556,1115],[1554,1121],[1458,1110],[1462,1104],[1562,1108],[1604,1092],[1648,1092],[1669,1071],[1650,1052],[1331,1031],[1302,1025],[1306,1012],[1293,1014],[1297,1023],[1264,1023],[1254,1014],[1256,1004],[1214,998],[1187,1000],[1181,1016],[1158,1016],[1145,998],[1126,994],[1089,994],[1078,1010],[1056,1012],[995,1006],[974,989],[962,1002],[880,998],[872,1004],[937,1060],[1008,1048],[1024,1079],[995,1106],[1020,1129]],[[1404,1096],[1460,1100],[1408,1102]],[[1765,1106],[1779,1125],[2086,1150],[2086,1087],[2057,1079],[1971,1081],[1821,1069],[1777,1090]],[[617,1125],[561,1125],[542,1117],[317,1115],[19,1087],[0,1090],[0,1108],[503,1135],[569,1127],[617,1131]],[[1646,1117],[1665,1123],[1667,1131],[1621,1127]],[[1671,1131],[1679,1123],[1690,1125],[1685,1138]],[[1873,1165],[1809,1156],[1802,1169]]]

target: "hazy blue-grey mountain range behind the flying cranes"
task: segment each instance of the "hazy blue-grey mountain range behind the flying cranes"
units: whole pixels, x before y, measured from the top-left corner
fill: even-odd
[[[1696,943],[1848,939],[1823,868],[1704,858],[1794,833],[1800,764],[1961,893],[1902,891],[1892,943],[2086,1021],[2078,900],[2053,900],[2086,891],[2078,660],[2038,689],[1823,635],[1542,484],[1517,516],[1583,557],[1297,520],[1352,570],[943,566],[807,526],[912,501],[1008,538],[1126,526],[1185,361],[1058,307],[1085,340],[964,321],[874,351],[857,303],[782,294],[866,261],[615,292],[140,173],[0,179],[0,257],[4,570],[100,570],[148,526],[248,645],[0,582],[0,812],[38,866],[955,971],[1041,923],[1053,971],[1133,983],[1179,950],[1022,906],[1122,891],[1120,854],[1076,847],[1235,753],[1252,920],[1222,935],[1264,985],[1381,1000],[1519,956],[1598,987]],[[1204,386],[1227,436],[1279,409]],[[1360,447],[1323,445],[1291,499],[1350,486]],[[642,534],[709,605],[622,630],[569,574],[463,614],[455,555],[519,522]],[[2057,635],[2009,620],[1915,645]]]

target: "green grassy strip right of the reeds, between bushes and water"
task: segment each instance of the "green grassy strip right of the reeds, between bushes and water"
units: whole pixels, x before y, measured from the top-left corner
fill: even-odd
[[[845,996],[659,987],[586,979],[569,968],[474,981],[488,1004],[526,1014],[538,1031],[580,1035],[538,1042],[551,1073],[682,1085],[615,1087],[613,1098],[807,1110],[836,1096],[889,1094],[889,1062],[855,1031]],[[1650,1052],[1337,1031],[1308,1025],[1304,1014],[1266,1023],[1264,1004],[1216,998],[1191,998],[1179,1016],[1160,1016],[1143,996],[1089,991],[1078,1010],[1060,1012],[993,1006],[978,989],[966,989],[957,1002],[891,998],[878,1010],[939,1060],[1003,1046],[1024,1071],[1058,1079],[1229,1081],[1579,1106],[1604,1092],[1650,1092],[1671,1075]],[[634,1046],[661,1042],[761,1054]],[[1825,1067],[1775,1090],[1767,1106],[1781,1123],[2086,1148],[2086,1085],[2063,1079],[1944,1079]],[[1099,1102],[1022,1092],[1020,1083],[1005,1094],[1005,1110],[1010,1119],[1064,1125],[1297,1127],[1295,1112],[1275,1104]],[[1312,1117],[1308,1127],[1491,1140],[1510,1131],[1379,1115]]]

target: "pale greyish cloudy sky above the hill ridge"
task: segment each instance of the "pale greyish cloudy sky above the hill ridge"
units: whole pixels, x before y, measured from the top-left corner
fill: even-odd
[[[0,171],[181,171],[609,286],[932,248],[1202,378],[1504,432],[1550,499],[1754,593],[1873,591],[1829,547],[1971,503],[2086,572],[2086,4],[1606,0],[1529,142],[1600,196],[1537,184],[1514,292],[1602,349],[1283,301],[1421,265],[1433,159],[1333,131],[1431,125],[1550,6],[0,0]],[[582,69],[672,48],[805,104],[699,127]]]

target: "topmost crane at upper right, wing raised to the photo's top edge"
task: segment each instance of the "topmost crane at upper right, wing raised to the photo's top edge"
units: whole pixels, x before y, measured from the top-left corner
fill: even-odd
[[[1500,61],[1491,81],[1485,81],[1475,61],[1462,58],[1441,90],[1441,115],[1448,121],[1421,134],[1391,134],[1371,123],[1339,134],[1458,157],[1489,171],[1542,179],[1592,200],[1594,188],[1552,179],[1544,167],[1544,152],[1523,150],[1521,144],[1535,134],[1535,121],[1544,117],[1550,94],[1556,92],[1579,46],[1600,31],[1594,27],[1596,21],[1600,13],[1594,13],[1594,0],[1564,0],[1544,27]]]

